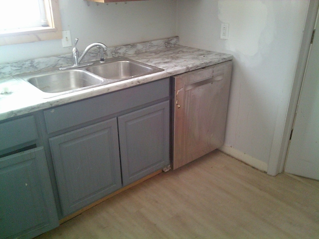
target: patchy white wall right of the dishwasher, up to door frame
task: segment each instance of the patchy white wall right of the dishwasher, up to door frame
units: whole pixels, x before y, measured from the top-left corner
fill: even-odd
[[[308,3],[177,0],[180,44],[233,54],[225,145],[264,170],[281,143]],[[228,40],[220,39],[222,22]]]

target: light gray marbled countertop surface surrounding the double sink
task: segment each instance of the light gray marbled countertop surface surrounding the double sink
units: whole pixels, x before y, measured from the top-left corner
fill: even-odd
[[[37,94],[37,89],[27,82],[16,80],[12,77],[1,78],[0,120],[156,81],[232,60],[233,58],[232,55],[229,54],[190,48],[177,44],[172,47],[151,49],[144,52],[123,52],[121,55],[160,67],[164,69],[164,71],[48,99],[41,98],[39,94]],[[112,54],[112,56],[114,56],[114,54]]]

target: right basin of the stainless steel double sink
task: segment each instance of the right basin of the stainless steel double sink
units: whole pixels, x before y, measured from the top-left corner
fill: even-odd
[[[100,63],[98,65],[90,66],[86,70],[105,79],[114,80],[126,80],[163,71],[161,68],[131,59]]]

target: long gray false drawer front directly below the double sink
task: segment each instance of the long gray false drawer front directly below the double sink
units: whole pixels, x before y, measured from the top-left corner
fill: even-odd
[[[44,111],[52,133],[169,97],[169,79],[151,82]]]

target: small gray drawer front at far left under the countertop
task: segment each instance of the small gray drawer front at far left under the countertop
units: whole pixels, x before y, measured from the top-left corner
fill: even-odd
[[[0,123],[0,151],[37,138],[33,116]]]

